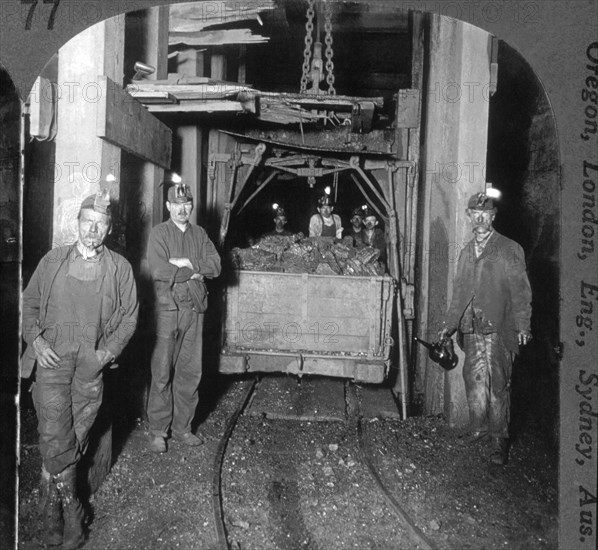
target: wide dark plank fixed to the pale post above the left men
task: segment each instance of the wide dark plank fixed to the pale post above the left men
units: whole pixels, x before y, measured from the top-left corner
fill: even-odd
[[[98,77],[96,135],[125,151],[168,170],[172,131],[106,76]],[[152,136],[152,139],[147,139]]]

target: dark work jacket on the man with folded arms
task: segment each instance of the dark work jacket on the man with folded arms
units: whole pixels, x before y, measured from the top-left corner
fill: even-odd
[[[193,269],[177,267],[170,258],[189,258]],[[181,231],[172,220],[156,225],[147,243],[147,262],[154,281],[156,309],[178,309],[174,299],[175,285],[188,287],[198,313],[207,307],[207,291],[203,281],[191,279],[199,273],[208,279],[220,275],[220,256],[203,227],[189,224]]]

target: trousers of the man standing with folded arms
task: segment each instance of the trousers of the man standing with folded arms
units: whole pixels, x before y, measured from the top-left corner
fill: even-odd
[[[191,431],[202,375],[204,315],[189,308],[156,312],[156,346],[147,416],[154,436]]]

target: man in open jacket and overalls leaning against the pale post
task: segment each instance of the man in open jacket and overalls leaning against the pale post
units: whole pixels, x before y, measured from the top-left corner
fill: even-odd
[[[137,324],[131,265],[104,246],[112,222],[107,192],[87,197],[78,240],[48,252],[23,292],[22,373],[32,386],[42,456],[40,510],[48,545],[84,542],[77,464],[102,402],[102,370]]]

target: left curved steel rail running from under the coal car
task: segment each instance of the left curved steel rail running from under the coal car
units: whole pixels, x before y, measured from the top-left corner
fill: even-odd
[[[224,523],[224,510],[222,506],[222,463],[224,462],[224,454],[226,453],[226,447],[230,441],[235,426],[237,425],[237,420],[247,407],[247,404],[249,403],[257,384],[258,379],[255,378],[245,390],[240,405],[237,407],[237,410],[229,418],[226,424],[226,429],[220,438],[220,443],[218,443],[218,448],[216,449],[216,455],[214,457],[214,466],[212,469],[212,511],[214,512],[216,538],[218,539],[217,548],[220,550],[231,550],[232,548],[228,541],[226,525]]]

